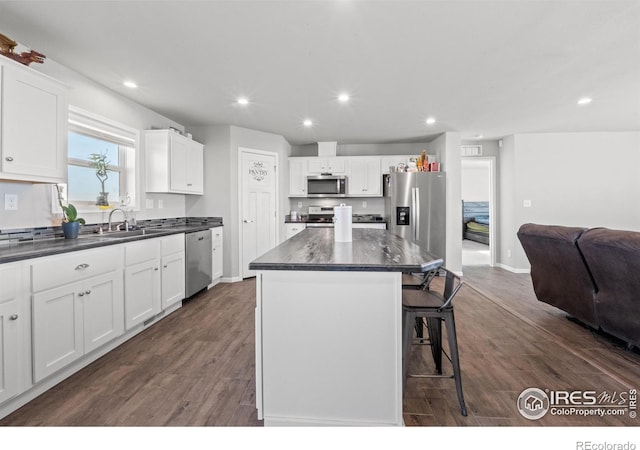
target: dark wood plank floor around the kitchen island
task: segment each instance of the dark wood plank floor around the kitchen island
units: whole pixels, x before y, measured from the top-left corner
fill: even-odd
[[[520,392],[640,387],[640,355],[538,302],[529,275],[465,267],[456,297],[464,395],[410,378],[409,426],[615,426],[629,417],[523,418]],[[255,281],[220,284],[0,421],[2,426],[261,426],[254,375]],[[424,354],[423,354],[424,352]],[[411,371],[433,371],[414,347]],[[445,364],[445,370],[449,366]]]

